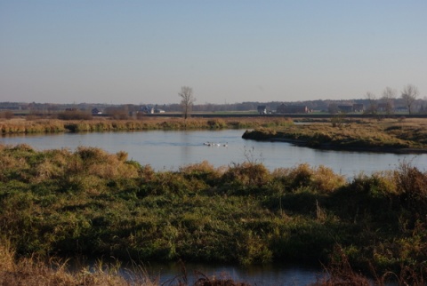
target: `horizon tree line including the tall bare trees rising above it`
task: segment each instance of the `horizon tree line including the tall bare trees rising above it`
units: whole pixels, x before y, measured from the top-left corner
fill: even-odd
[[[396,108],[405,109],[408,114],[426,114],[427,97],[420,99],[420,92],[413,84],[407,84],[401,91],[391,87],[386,87],[380,96],[367,91],[361,99],[316,99],[287,101],[284,96],[283,101],[244,101],[236,103],[199,103],[196,104],[196,95],[189,86],[182,86],[178,92],[180,102],[171,104],[141,103],[141,104],[123,104],[111,105],[101,103],[79,103],[79,104],[53,104],[53,103],[25,103],[25,102],[0,102],[0,111],[8,117],[11,113],[36,113],[36,114],[54,114],[67,109],[75,109],[90,112],[93,108],[102,110],[104,114],[117,115],[117,119],[135,115],[143,108],[152,107],[153,109],[162,109],[165,112],[181,112],[186,118],[191,112],[244,112],[255,111],[258,106],[265,106],[270,111],[275,111],[281,104],[307,106],[310,110],[327,113],[337,113],[338,106],[362,104],[365,107],[365,113],[377,114],[383,112],[391,115]],[[178,100],[177,100],[178,101]]]

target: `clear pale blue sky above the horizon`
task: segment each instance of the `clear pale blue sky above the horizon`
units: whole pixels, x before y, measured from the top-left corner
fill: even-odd
[[[425,0],[0,0],[0,101],[427,96]]]

